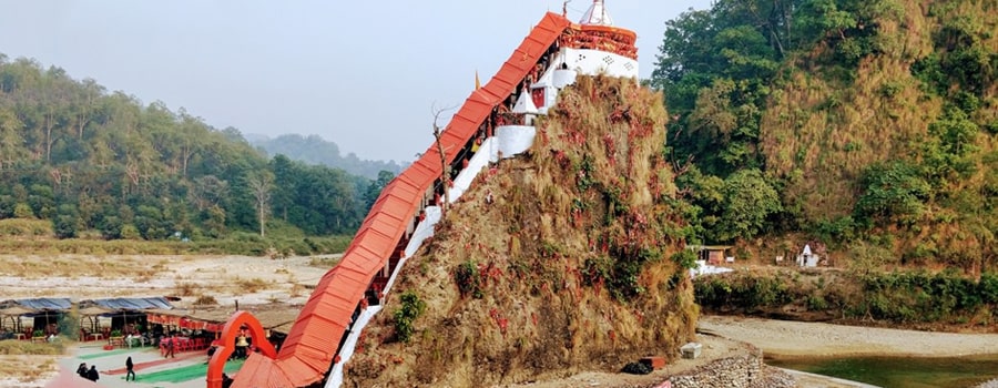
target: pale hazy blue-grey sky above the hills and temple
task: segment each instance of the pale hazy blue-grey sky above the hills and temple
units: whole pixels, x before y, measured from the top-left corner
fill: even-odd
[[[410,161],[560,0],[0,0],[0,52],[244,134],[318,134]],[[589,0],[569,2],[578,20]],[[607,0],[651,74],[664,22],[710,0]],[[452,114],[452,113],[451,113]],[[449,119],[449,115],[448,115]]]

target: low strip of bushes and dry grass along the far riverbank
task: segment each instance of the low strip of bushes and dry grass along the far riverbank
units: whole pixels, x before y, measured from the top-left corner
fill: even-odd
[[[996,333],[998,276],[975,282],[957,270],[856,276],[838,269],[756,268],[694,280],[710,314],[926,330]]]

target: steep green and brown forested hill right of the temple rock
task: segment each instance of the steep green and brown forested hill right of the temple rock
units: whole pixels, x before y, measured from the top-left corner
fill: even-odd
[[[992,0],[719,0],[669,21],[650,83],[691,236],[994,270],[996,23]]]

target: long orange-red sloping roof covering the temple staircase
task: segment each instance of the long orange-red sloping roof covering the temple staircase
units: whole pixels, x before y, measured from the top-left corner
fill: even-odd
[[[569,25],[569,20],[559,14],[546,14],[499,72],[468,96],[440,136],[448,163]],[[440,154],[432,144],[383,190],[339,265],[316,285],[277,359],[252,355],[236,375],[234,388],[303,387],[323,379],[364,292],[387,263],[416,216],[424,193],[441,171]]]

